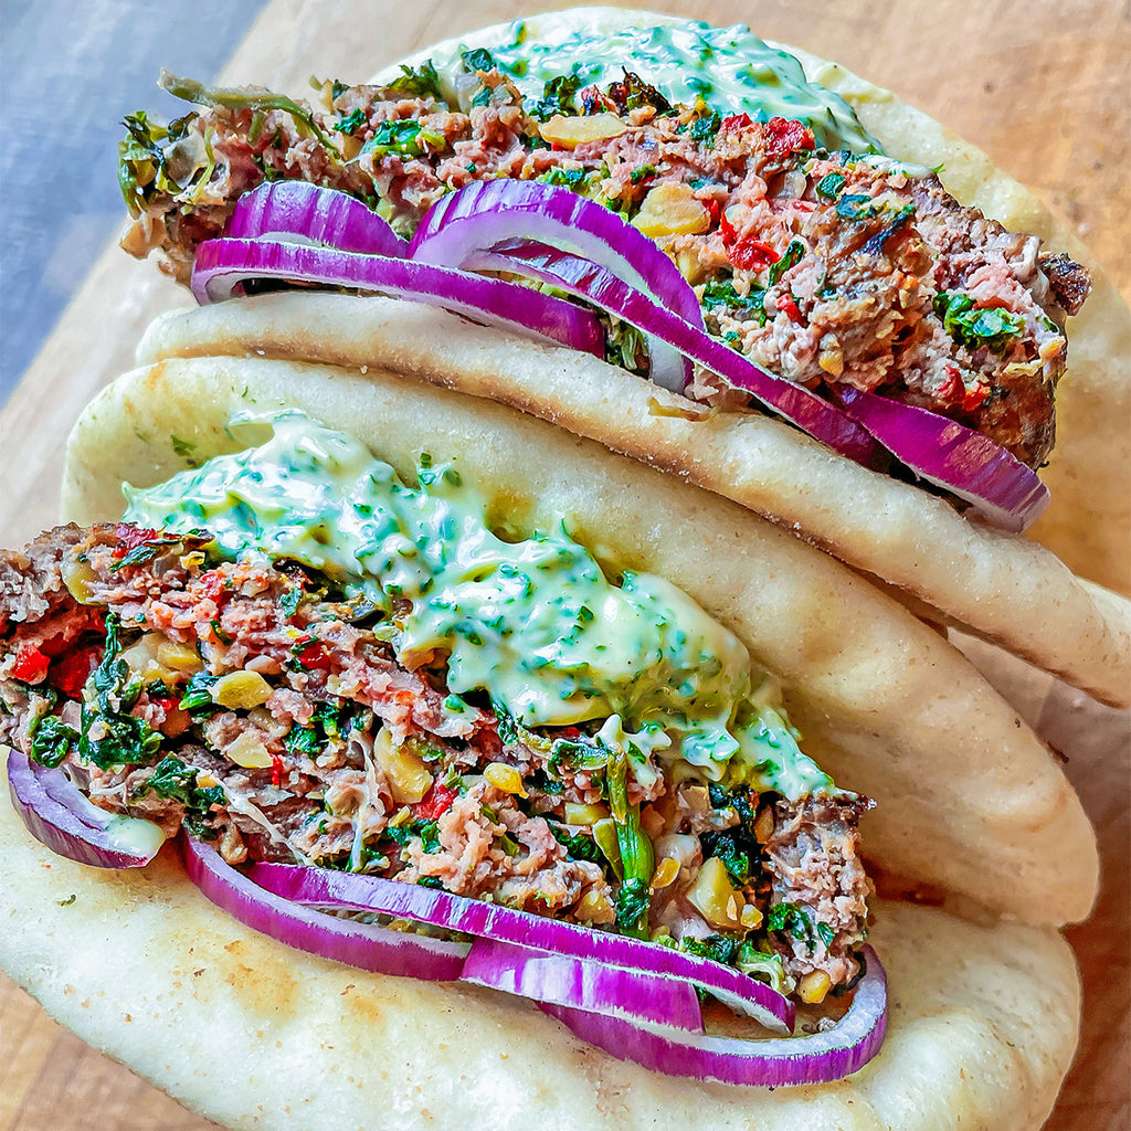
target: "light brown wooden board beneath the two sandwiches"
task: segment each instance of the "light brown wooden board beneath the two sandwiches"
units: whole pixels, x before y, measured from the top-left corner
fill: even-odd
[[[551,7],[561,5],[274,0],[223,77],[300,92],[311,74],[360,79],[426,43]],[[1124,0],[668,0],[663,7],[715,23],[744,20],[761,35],[837,59],[895,89],[1037,189],[1093,247],[1124,295],[1131,293],[1131,7]],[[155,71],[159,64],[155,59]],[[152,314],[183,302],[152,264],[136,264],[116,249],[100,259],[0,415],[5,545],[51,524],[62,444],[80,406],[129,368]],[[1061,749],[1073,751],[1081,734],[1098,727],[1117,753],[1097,761],[1085,749],[1067,766],[1097,827],[1105,879],[1095,916],[1068,932],[1081,961],[1086,1012],[1081,1052],[1047,1124],[1053,1131],[1114,1131],[1131,1125],[1128,716],[1098,711],[1062,688],[1035,714]],[[211,1126],[60,1029],[0,976],[0,1131]]]

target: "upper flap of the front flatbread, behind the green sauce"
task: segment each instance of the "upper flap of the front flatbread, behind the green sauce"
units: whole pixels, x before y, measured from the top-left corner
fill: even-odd
[[[506,532],[568,527],[611,569],[666,577],[783,683],[791,718],[844,788],[875,798],[867,851],[903,884],[1038,924],[1087,915],[1095,838],[1016,711],[934,630],[757,515],[534,416],[391,373],[214,357],[135,370],[69,442],[62,515],[121,515],[146,486],[239,443],[240,413],[294,406],[407,481],[455,459]],[[174,450],[172,438],[176,437]]]

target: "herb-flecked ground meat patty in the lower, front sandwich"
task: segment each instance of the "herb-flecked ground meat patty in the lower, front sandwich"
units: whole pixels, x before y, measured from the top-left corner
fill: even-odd
[[[61,766],[103,809],[216,841],[233,864],[346,867],[631,923],[723,960],[778,956],[786,988],[853,978],[866,801],[792,804],[632,770],[628,803],[657,871],[642,907],[629,892],[630,914],[599,830],[612,765],[571,765],[598,749],[603,720],[527,731],[451,696],[442,656],[402,665],[395,619],[326,578],[210,560],[209,546],[119,524],[0,553],[0,742]]]

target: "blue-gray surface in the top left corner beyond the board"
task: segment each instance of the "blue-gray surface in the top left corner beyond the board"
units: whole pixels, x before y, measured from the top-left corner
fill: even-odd
[[[124,114],[173,118],[162,67],[211,79],[265,0],[0,0],[0,405],[126,215]]]

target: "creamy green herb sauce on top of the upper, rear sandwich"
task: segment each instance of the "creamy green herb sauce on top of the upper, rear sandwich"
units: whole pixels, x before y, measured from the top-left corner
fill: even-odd
[[[613,29],[598,15],[566,28],[552,18],[543,26],[535,17],[508,25],[494,42],[468,45],[486,48],[526,98],[541,98],[544,84],[559,75],[578,75],[585,86],[604,88],[621,81],[627,67],[670,102],[693,105],[701,97],[724,115],[793,118],[826,149],[881,152],[844,98],[810,83],[796,58],[743,24],[679,20]],[[434,54],[433,63],[449,75],[461,69],[456,51]]]

